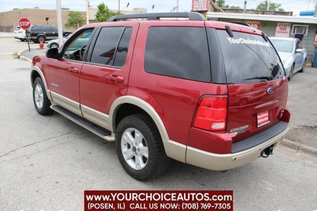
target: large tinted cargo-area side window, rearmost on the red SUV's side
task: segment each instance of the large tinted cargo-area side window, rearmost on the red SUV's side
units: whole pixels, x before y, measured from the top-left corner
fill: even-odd
[[[211,82],[206,29],[200,27],[151,27],[144,69],[148,73]]]

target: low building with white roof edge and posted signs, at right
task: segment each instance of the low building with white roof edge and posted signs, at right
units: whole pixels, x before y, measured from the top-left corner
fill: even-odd
[[[317,17],[229,12],[207,12],[207,16],[211,20],[248,23],[263,31],[268,37],[297,37],[302,40],[304,48],[307,49],[307,63],[312,63]]]

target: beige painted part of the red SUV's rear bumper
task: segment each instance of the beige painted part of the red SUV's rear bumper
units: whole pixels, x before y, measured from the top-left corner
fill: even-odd
[[[271,145],[275,147],[284,138],[288,129],[286,127],[281,133],[264,143],[238,153],[215,154],[187,146],[186,163],[217,171],[239,167],[259,158],[265,148]]]

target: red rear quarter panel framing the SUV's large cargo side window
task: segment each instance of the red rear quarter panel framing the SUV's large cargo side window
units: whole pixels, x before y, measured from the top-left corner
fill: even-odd
[[[145,72],[145,46],[148,29],[151,26],[204,27],[204,21],[142,22],[135,44],[129,77],[127,95],[138,97],[153,106],[164,123],[169,139],[186,145],[193,115],[201,96],[206,94],[226,95],[227,85],[216,85]]]

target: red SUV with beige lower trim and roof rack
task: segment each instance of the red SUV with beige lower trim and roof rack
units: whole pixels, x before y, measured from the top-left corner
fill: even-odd
[[[33,58],[31,83],[40,114],[115,141],[138,180],[170,158],[227,170],[268,157],[290,119],[285,71],[264,33],[193,12],[87,24]]]

